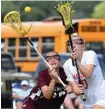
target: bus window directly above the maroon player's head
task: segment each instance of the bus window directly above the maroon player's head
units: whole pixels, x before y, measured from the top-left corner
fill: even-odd
[[[54,37],[42,38],[42,53],[54,51]]]

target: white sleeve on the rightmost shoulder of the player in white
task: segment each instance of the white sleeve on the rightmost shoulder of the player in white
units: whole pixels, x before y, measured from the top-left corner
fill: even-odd
[[[93,65],[96,65],[98,60],[96,53],[92,50],[88,52],[85,59],[86,59],[85,64],[93,64]]]

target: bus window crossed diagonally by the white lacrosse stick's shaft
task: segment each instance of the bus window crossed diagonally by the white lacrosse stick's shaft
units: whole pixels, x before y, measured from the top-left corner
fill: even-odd
[[[38,38],[31,38],[31,40],[32,40],[34,46],[36,46],[38,48]],[[35,51],[35,49],[32,46],[30,46],[30,47],[31,47],[30,57],[31,58],[36,58],[38,56],[37,52]]]

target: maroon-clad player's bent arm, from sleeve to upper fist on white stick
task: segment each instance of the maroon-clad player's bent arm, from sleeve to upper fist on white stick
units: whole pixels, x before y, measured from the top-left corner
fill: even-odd
[[[47,78],[45,75],[46,75],[46,73],[44,73],[44,72],[41,72],[39,74],[38,83],[39,83],[39,86],[41,87],[43,96],[46,99],[50,99],[54,92],[54,87],[55,87],[56,80],[57,80],[56,76],[58,74],[54,69],[49,71],[49,75],[52,78],[49,84],[47,83]]]

